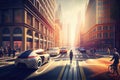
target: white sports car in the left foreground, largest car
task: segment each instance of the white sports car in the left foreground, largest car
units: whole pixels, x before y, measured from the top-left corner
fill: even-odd
[[[15,66],[38,69],[42,64],[48,62],[49,59],[49,54],[46,54],[43,49],[27,50],[16,58]]]

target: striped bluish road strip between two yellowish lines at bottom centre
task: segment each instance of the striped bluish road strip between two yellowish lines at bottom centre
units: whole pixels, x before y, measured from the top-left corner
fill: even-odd
[[[67,63],[68,61],[66,61]],[[81,76],[80,76],[81,75]],[[75,60],[67,63],[61,70],[57,80],[86,80],[83,68]]]

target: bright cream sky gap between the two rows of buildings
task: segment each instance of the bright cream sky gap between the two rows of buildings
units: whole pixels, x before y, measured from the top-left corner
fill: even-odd
[[[57,0],[57,4],[61,5],[62,10],[61,21],[63,23],[64,37],[68,38],[66,36],[68,36],[67,33],[69,30],[69,42],[71,44],[73,44],[75,41],[75,29],[76,25],[78,24],[78,15],[81,15],[81,19],[84,20],[84,11],[87,1],[88,0]],[[69,29],[66,28],[67,26],[69,27]]]

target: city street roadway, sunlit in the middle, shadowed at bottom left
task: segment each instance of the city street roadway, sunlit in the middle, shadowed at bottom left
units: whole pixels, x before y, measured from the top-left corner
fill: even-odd
[[[70,64],[69,54],[51,57],[50,62],[38,70],[16,68],[14,60],[0,67],[1,80],[114,80],[108,72],[111,64],[108,57],[91,58],[87,54],[73,51],[74,58]],[[2,61],[1,61],[2,62]]]

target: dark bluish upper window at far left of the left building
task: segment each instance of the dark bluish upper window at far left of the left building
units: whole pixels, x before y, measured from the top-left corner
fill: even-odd
[[[11,23],[12,22],[12,12],[11,10],[3,10],[3,23]]]

